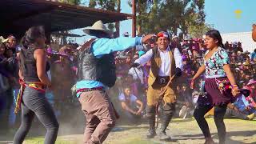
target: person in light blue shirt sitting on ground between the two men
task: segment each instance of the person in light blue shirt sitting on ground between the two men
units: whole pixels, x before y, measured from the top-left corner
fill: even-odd
[[[131,94],[129,86],[126,86],[123,93],[118,96],[119,101],[122,105],[122,111],[125,117],[136,120],[141,118],[143,110],[143,102],[138,100],[138,98]]]

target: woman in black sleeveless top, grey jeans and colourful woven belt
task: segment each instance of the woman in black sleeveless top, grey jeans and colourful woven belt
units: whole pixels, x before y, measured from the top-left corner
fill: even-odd
[[[15,113],[22,109],[22,123],[14,136],[14,144],[22,144],[29,132],[34,116],[46,127],[45,144],[53,144],[58,135],[58,121],[54,110],[45,97],[46,88],[51,87],[46,71],[46,35],[42,26],[34,26],[22,38],[22,50],[18,54],[21,89]]]

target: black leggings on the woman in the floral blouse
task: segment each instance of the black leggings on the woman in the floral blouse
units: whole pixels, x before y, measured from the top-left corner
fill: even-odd
[[[225,143],[226,139],[226,126],[223,121],[224,115],[226,114],[226,105],[222,106],[205,106],[198,105],[194,110],[194,118],[198,122],[198,126],[202,130],[205,138],[210,138],[210,130],[204,115],[214,107],[214,122],[218,130],[219,143]]]

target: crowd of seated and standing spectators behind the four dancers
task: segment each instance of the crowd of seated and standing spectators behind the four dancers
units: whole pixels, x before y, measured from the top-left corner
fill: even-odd
[[[124,35],[127,36],[127,35]],[[46,97],[54,106],[57,116],[62,117],[62,112],[66,112],[68,106],[76,103],[76,98],[72,94],[71,87],[76,81],[76,58],[78,54],[78,44],[58,46],[53,49],[47,46],[51,69],[47,72],[51,78],[53,90],[47,91]],[[107,90],[117,106],[119,113],[127,118],[143,118],[146,106],[147,77],[150,71],[150,62],[142,67],[131,67],[134,61],[145,54],[150,46],[138,46],[134,50],[121,51],[115,54],[117,81],[115,86]],[[181,118],[188,118],[193,113],[196,98],[200,94],[199,87],[191,90],[188,84],[190,78],[203,64],[206,46],[203,38],[179,39],[174,36],[170,42],[170,48],[178,48],[182,53],[184,71],[175,87],[178,93],[178,111]],[[256,114],[256,49],[248,52],[242,49],[241,42],[226,42],[224,47],[230,55],[230,67],[234,72],[239,87],[250,89],[251,94],[247,98],[238,98],[230,105],[227,114],[238,118],[248,119],[248,115]],[[13,35],[0,40],[0,118],[6,119],[6,125],[14,125],[14,105],[18,94],[18,53],[19,46]],[[203,80],[203,77],[200,81]],[[200,82],[198,82],[200,83]],[[186,111],[186,114],[184,111]],[[240,115],[238,115],[240,114]],[[245,114],[242,115],[241,114]],[[251,118],[250,118],[251,119]],[[3,121],[2,121],[3,122]]]

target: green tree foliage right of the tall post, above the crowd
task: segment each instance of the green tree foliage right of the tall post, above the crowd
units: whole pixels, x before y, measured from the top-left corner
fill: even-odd
[[[131,2],[129,2],[131,6]],[[190,26],[205,22],[204,0],[138,0],[138,34],[157,33],[161,30],[188,34]]]

